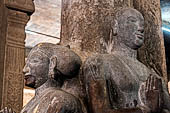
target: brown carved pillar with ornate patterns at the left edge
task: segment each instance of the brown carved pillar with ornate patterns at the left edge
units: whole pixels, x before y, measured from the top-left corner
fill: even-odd
[[[32,0],[0,2],[0,106],[19,113],[23,105],[25,25],[34,5]]]

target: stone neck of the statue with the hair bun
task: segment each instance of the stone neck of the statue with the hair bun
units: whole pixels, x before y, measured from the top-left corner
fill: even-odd
[[[45,89],[50,87],[60,88],[61,84],[54,79],[48,79],[43,85],[35,89],[35,95],[41,95]]]

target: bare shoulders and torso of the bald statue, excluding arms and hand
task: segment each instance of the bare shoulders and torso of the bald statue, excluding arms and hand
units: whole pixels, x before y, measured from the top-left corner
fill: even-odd
[[[93,78],[102,77],[106,81],[110,107],[135,108],[141,104],[138,91],[151,74],[144,64],[119,54],[98,55],[92,57],[90,62],[96,67]]]

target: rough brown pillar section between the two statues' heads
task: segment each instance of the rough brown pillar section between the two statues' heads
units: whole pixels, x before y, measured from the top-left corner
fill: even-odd
[[[124,6],[133,7],[133,0],[62,0],[61,44],[70,45],[82,60],[105,53],[114,10]]]

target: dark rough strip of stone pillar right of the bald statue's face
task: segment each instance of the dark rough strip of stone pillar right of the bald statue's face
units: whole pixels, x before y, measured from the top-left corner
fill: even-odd
[[[134,0],[133,4],[145,19],[145,43],[138,52],[139,60],[153,68],[167,82],[160,0]]]

